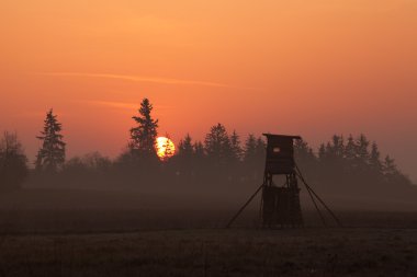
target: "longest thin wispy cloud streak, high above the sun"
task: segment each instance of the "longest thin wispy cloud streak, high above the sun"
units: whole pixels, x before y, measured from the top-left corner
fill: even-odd
[[[116,80],[125,80],[125,81],[132,81],[132,82],[150,82],[150,83],[180,84],[180,85],[203,85],[203,86],[244,89],[244,90],[256,89],[256,88],[235,86],[235,85],[217,83],[217,82],[182,80],[182,79],[171,79],[171,78],[155,78],[155,77],[143,77],[143,76],[128,76],[128,74],[84,73],[84,72],[36,72],[36,74],[56,76],[56,77],[61,76],[61,77],[105,78],[105,79],[116,79]]]

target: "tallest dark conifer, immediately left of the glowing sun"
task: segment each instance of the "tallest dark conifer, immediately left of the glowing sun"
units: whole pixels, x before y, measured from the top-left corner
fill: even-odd
[[[131,129],[129,149],[134,153],[145,157],[156,157],[155,140],[158,136],[158,119],[153,119],[150,113],[153,105],[148,99],[144,99],[138,109],[139,116],[132,118],[137,127]]]

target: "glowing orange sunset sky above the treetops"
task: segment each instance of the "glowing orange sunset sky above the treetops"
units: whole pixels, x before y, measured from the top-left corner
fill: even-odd
[[[0,130],[33,159],[46,111],[69,155],[126,145],[145,96],[160,132],[364,132],[417,180],[415,0],[2,0]]]

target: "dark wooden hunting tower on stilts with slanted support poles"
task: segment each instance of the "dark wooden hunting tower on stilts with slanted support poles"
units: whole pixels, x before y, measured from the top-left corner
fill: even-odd
[[[238,212],[227,223],[229,227],[240,212],[249,205],[255,196],[262,191],[261,198],[261,224],[262,227],[302,227],[303,217],[300,205],[298,178],[304,183],[313,204],[326,226],[325,218],[318,208],[316,200],[330,213],[338,226],[340,221],[318,197],[312,187],[305,182],[294,159],[294,140],[300,136],[263,134],[267,137],[267,154],[263,173],[263,183],[255,194],[246,201]],[[274,176],[281,176],[282,184],[274,183]]]

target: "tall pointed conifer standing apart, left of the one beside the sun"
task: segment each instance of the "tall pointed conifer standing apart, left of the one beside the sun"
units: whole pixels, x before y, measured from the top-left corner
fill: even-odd
[[[60,131],[61,124],[56,119],[53,109],[49,109],[44,120],[44,130],[37,137],[42,140],[42,147],[36,155],[36,170],[56,172],[63,168],[66,143]]]

